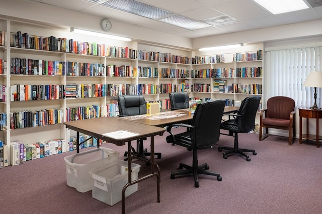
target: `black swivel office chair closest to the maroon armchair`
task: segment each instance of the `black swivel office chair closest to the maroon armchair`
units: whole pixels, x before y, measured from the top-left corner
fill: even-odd
[[[223,153],[223,158],[227,158],[228,155],[238,153],[246,157],[247,161],[251,161],[251,158],[245,152],[253,152],[253,155],[257,155],[255,150],[240,149],[238,147],[238,133],[248,133],[255,128],[255,118],[258,106],[260,103],[260,96],[246,97],[241,102],[239,110],[236,114],[223,114],[223,116],[229,116],[229,120],[221,123],[221,129],[228,130],[228,134],[220,133],[223,135],[229,135],[234,137],[234,146],[231,147],[218,147],[218,150],[228,150]]]

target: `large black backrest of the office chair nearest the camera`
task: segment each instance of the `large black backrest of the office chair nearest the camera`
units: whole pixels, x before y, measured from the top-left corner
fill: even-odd
[[[192,119],[190,138],[197,149],[209,148],[220,136],[220,124],[225,108],[225,100],[205,101],[197,105]]]

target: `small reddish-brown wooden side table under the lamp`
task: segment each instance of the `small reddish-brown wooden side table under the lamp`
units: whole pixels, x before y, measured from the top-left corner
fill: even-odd
[[[299,116],[300,116],[300,138],[299,143],[302,144],[302,138],[308,140],[315,140],[316,147],[319,147],[318,140],[322,139],[322,136],[318,135],[318,127],[319,127],[319,120],[322,118],[322,110],[321,109],[309,109],[309,108],[298,108]],[[302,135],[302,118],[306,118],[306,134]],[[310,135],[308,132],[308,119],[315,118],[316,119],[316,134]]]

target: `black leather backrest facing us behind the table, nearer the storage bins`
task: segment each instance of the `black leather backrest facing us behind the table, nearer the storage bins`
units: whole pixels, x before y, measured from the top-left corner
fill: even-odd
[[[146,102],[142,95],[118,96],[120,116],[133,116],[146,114]]]

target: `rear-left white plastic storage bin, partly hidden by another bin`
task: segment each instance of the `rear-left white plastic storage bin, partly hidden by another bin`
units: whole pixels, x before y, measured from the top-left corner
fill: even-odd
[[[93,181],[89,171],[118,160],[119,154],[113,149],[96,148],[66,156],[67,185],[76,188],[78,192],[92,190]]]

